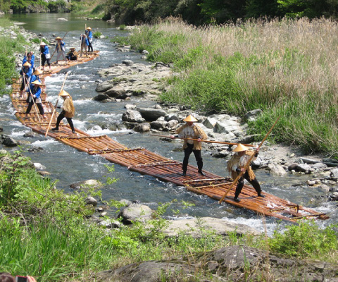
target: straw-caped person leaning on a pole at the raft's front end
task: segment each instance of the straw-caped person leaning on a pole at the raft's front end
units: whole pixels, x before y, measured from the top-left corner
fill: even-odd
[[[244,166],[249,161],[252,154],[255,154],[253,160],[257,158],[258,151],[256,152],[249,151],[249,148],[239,144],[233,149],[235,152],[230,160],[227,162],[227,171],[231,173],[232,179],[236,179],[239,173],[243,172],[242,177],[239,178],[236,191],[234,192],[234,201],[239,202],[239,194],[242,192],[244,186],[244,179],[248,180],[253,188],[255,188],[258,197],[265,197],[262,195],[261,185],[259,185],[258,180],[256,179],[255,173],[253,173],[251,166],[248,166],[248,169],[245,170]]]

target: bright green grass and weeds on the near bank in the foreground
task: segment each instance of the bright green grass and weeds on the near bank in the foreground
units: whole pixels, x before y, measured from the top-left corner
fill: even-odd
[[[229,245],[259,247],[298,259],[338,259],[338,226],[321,229],[307,221],[289,226],[285,233],[276,230],[273,238],[236,233],[223,238],[203,224],[199,239],[184,234],[166,238],[161,214],[170,204],[158,206],[151,228],[135,223],[107,232],[88,219],[94,208],[84,204],[88,195],[99,198],[100,191],[87,188],[67,194],[56,189],[56,181],[39,176],[19,151],[0,154],[0,166],[1,271],[30,274],[39,282],[96,281],[95,274],[106,269],[178,255],[194,257]],[[208,275],[200,272],[201,277]]]

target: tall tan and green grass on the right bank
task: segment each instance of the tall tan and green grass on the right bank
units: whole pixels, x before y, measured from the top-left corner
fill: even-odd
[[[200,28],[170,19],[119,41],[181,72],[163,100],[238,116],[262,109],[251,133],[264,135],[281,116],[277,142],[338,157],[337,31],[324,19]]]

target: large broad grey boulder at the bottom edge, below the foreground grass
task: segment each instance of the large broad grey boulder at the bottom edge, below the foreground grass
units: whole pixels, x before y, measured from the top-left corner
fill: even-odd
[[[192,259],[193,258],[193,259]],[[338,281],[338,264],[287,258],[245,245],[222,247],[211,252],[189,253],[161,261],[137,262],[100,271],[98,282],[132,281]],[[204,269],[204,271],[201,271]],[[206,274],[206,277],[203,276]]]

